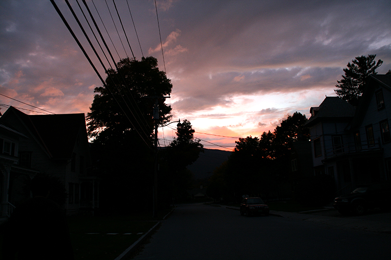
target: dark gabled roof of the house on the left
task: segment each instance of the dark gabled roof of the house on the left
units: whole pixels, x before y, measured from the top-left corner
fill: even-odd
[[[26,130],[37,140],[51,159],[70,159],[80,127],[86,127],[83,113],[27,115],[12,106],[1,116],[0,122],[11,113],[19,118]],[[12,128],[9,125],[8,127]],[[84,138],[80,137],[80,140],[84,140]]]

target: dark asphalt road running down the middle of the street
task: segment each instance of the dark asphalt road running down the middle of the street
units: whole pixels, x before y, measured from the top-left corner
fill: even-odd
[[[180,205],[137,260],[390,259],[391,234],[275,216],[243,217],[210,205]]]

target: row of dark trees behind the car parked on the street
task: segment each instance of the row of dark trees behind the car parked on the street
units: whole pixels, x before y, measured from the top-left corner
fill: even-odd
[[[305,115],[295,112],[282,120],[274,132],[263,132],[260,138],[239,138],[229,160],[210,178],[207,195],[214,200],[230,202],[239,202],[243,195],[265,200],[299,196],[296,199],[303,200],[316,181],[312,180],[310,171],[292,175],[291,154],[295,152],[294,142],[309,141],[309,129],[304,126],[306,121]],[[311,151],[306,152],[310,156]],[[319,185],[315,186],[317,190],[323,190]],[[298,190],[296,195],[295,189]]]

